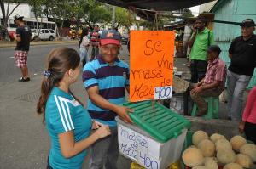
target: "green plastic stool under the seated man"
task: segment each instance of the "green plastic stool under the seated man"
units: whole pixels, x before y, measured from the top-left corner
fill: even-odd
[[[204,115],[203,117],[205,119],[213,119],[213,118],[218,119],[218,107],[219,107],[218,97],[207,97],[204,99],[208,103],[208,110],[207,110],[207,115]],[[196,116],[197,110],[198,110],[197,105],[194,104],[191,116]]]

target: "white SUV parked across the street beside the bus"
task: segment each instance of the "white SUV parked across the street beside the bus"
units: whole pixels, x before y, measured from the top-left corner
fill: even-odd
[[[41,29],[38,37],[38,31],[37,30],[32,30],[32,39],[41,39],[41,40],[49,40],[53,41],[55,39],[55,31],[52,29]]]

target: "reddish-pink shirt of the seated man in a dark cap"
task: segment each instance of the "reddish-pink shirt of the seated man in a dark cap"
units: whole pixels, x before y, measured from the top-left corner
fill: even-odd
[[[217,58],[213,61],[208,61],[207,73],[204,79],[204,84],[210,84],[212,82],[220,81],[223,82],[221,87],[224,87],[226,80],[227,69],[224,62]]]

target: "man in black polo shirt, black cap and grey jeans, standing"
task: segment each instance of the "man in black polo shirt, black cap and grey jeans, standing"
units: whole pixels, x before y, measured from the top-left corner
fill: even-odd
[[[242,96],[256,67],[256,35],[253,31],[255,31],[254,21],[243,20],[241,36],[235,38],[229,49],[231,59],[227,74],[229,116],[235,121],[241,120]]]

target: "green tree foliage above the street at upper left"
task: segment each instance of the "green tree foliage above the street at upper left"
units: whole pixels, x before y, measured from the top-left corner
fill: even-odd
[[[112,20],[112,6],[96,0],[0,0],[5,28],[7,28],[9,15],[14,10],[4,9],[4,3],[8,3],[8,8],[9,3],[16,3],[16,8],[20,3],[28,3],[32,6],[37,22],[40,22],[39,18],[52,18],[61,28],[65,21],[77,25],[77,28],[85,23],[92,29],[95,24],[108,25]],[[129,13],[127,9],[117,7],[114,27],[125,26],[129,29],[135,21],[134,18],[134,14]]]

